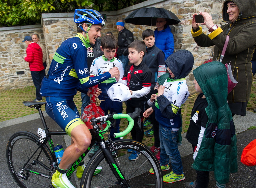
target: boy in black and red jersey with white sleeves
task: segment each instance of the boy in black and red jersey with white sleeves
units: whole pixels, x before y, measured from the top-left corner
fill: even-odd
[[[146,110],[146,95],[150,92],[152,72],[145,63],[142,62],[142,58],[146,53],[146,45],[143,41],[133,41],[128,46],[128,58],[130,65],[124,70],[124,76],[120,79],[120,75],[116,76],[117,83],[127,85],[130,89],[132,98],[127,100],[126,113],[132,113],[135,108],[141,108],[141,122],[143,121],[143,112]],[[131,130],[132,139],[142,142],[144,131],[138,126],[138,120],[134,120],[134,126]],[[129,156],[129,160],[138,159],[140,153],[128,150],[132,152]]]

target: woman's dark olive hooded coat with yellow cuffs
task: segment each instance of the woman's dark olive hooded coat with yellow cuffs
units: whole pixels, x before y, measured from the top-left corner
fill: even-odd
[[[225,44],[226,36],[229,42],[222,63],[229,63],[232,67],[234,78],[238,81],[228,94],[228,102],[249,101],[252,87],[252,54],[256,48],[256,5],[255,0],[233,0],[239,9],[237,20],[229,21],[227,13],[227,1],[223,3],[224,24],[212,33],[205,35],[202,27],[196,32],[191,30],[192,36],[200,47],[214,45],[213,59],[219,61]]]

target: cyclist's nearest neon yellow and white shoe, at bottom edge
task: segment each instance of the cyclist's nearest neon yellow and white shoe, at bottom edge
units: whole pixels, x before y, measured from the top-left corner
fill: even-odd
[[[68,180],[66,173],[62,174],[58,170],[54,172],[51,178],[51,183],[55,188],[63,188],[63,187],[75,188]]]

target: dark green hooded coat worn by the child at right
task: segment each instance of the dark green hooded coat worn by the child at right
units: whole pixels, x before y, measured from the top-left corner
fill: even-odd
[[[205,111],[209,118],[193,168],[214,171],[215,180],[225,184],[229,173],[237,172],[237,140],[227,102],[227,70],[222,63],[213,61],[197,67],[193,74],[208,102]]]

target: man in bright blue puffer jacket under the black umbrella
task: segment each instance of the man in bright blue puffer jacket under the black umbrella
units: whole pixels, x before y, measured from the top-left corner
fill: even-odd
[[[167,59],[174,51],[174,39],[171,28],[166,25],[165,18],[156,19],[155,44],[164,52],[164,60]]]

